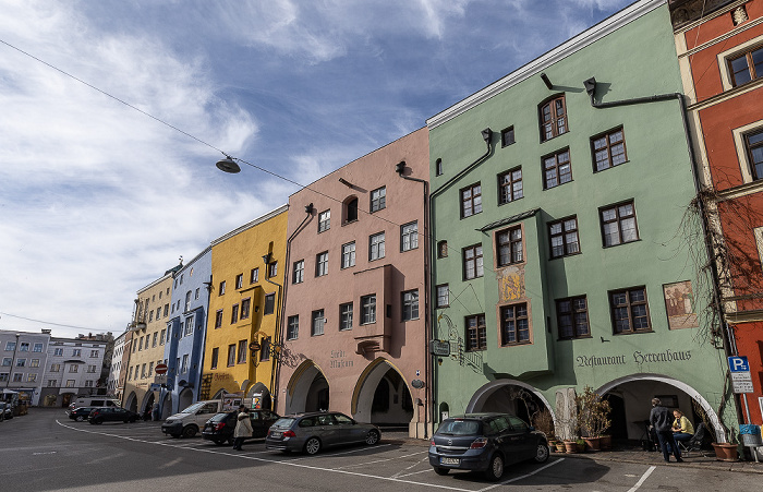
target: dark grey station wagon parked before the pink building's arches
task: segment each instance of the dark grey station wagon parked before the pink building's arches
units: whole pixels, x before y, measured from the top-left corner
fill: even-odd
[[[324,447],[349,443],[374,445],[379,439],[382,431],[374,424],[356,422],[336,411],[316,411],[278,419],[265,437],[265,448],[314,455]]]

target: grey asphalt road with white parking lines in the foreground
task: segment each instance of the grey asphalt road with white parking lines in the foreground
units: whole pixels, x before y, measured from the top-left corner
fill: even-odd
[[[69,420],[35,409],[0,423],[1,491],[756,491],[761,476],[552,456],[544,465],[509,467],[500,482],[467,472],[438,477],[425,443],[391,441],[329,449],[316,456],[243,452],[201,437],[175,440],[160,422]]]

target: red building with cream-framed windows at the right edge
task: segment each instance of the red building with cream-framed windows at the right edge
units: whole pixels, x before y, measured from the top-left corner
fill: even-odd
[[[754,393],[744,421],[763,421],[763,0],[670,0],[694,152],[706,187],[732,353]],[[749,416],[749,417],[747,417]]]

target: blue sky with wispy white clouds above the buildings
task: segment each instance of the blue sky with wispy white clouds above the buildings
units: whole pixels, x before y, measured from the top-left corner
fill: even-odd
[[[0,329],[143,287],[631,0],[0,0]],[[215,167],[223,153],[243,166]]]

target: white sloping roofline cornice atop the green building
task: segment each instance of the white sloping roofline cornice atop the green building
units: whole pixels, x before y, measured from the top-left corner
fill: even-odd
[[[491,99],[510,87],[513,87],[520,82],[541,73],[543,70],[549,68],[554,63],[580,51],[593,43],[596,43],[603,37],[614,33],[620,27],[664,4],[667,4],[667,0],[639,0],[631,3],[619,12],[614,13],[602,22],[566,40],[556,48],[546,51],[533,61],[525,63],[502,79],[497,80],[487,87],[477,91],[465,99],[462,99],[446,110],[438,112],[426,120],[426,125],[429,128],[429,130],[432,130],[450,121],[451,119],[469,111],[473,107]]]

